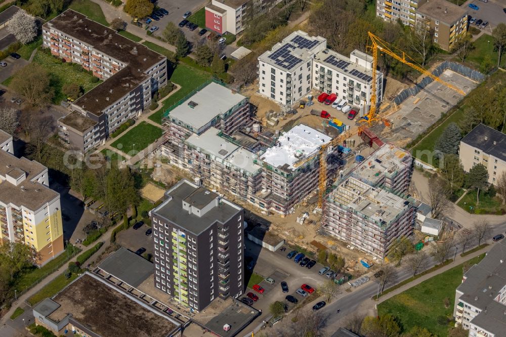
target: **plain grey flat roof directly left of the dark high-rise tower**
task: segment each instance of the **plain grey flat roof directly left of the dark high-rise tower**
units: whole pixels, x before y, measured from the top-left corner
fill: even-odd
[[[151,262],[123,247],[108,256],[98,267],[134,288],[153,273]]]

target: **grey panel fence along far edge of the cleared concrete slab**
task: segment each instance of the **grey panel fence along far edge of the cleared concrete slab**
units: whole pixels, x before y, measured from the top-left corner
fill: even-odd
[[[450,69],[462,76],[468,77],[474,81],[482,82],[485,79],[485,75],[479,71],[473,70],[465,65],[458,64],[455,62],[445,61],[441,63],[432,71],[432,74],[435,76],[440,76],[446,69]],[[404,89],[396,98],[394,98],[394,103],[401,104],[404,102],[409,96],[415,96],[425,87],[430,85],[434,80],[429,76],[424,77],[419,83],[414,85],[413,87]]]

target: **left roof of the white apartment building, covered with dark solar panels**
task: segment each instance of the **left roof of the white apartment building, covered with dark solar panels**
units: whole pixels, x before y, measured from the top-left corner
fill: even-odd
[[[303,62],[309,61],[321,44],[326,45],[321,36],[309,36],[298,30],[286,36],[281,42],[259,56],[259,60],[271,66],[289,71]]]

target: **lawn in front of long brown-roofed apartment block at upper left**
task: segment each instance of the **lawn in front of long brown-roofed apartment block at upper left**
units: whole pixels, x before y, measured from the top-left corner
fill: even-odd
[[[53,102],[56,104],[66,99],[66,96],[61,92],[63,86],[66,84],[75,83],[82,87],[86,93],[101,83],[101,81],[94,82],[93,75],[77,70],[72,63],[63,63],[56,57],[41,51],[35,54],[33,62],[40,64],[49,72],[51,86],[55,90]]]

